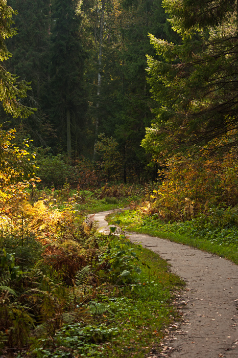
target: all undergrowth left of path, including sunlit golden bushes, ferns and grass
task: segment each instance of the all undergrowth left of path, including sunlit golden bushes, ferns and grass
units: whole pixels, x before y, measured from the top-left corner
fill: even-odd
[[[148,188],[37,190],[31,181],[10,185],[11,175],[0,189],[1,356],[147,354],[177,315],[171,291],[182,283],[115,228],[100,234],[83,211],[125,198],[133,206]]]

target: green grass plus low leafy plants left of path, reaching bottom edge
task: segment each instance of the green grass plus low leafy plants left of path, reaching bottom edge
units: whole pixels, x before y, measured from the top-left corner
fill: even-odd
[[[117,244],[118,241],[115,243]],[[164,330],[180,316],[174,292],[184,282],[169,264],[140,245],[129,244],[139,257],[141,274],[122,285],[105,285],[84,307],[91,318],[63,326],[33,352],[38,358],[137,357],[159,351]]]

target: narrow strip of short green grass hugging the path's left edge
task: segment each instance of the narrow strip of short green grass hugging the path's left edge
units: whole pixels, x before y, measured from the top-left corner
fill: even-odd
[[[119,332],[104,350],[108,357],[144,358],[152,347],[158,350],[164,329],[178,319],[172,305],[173,292],[183,287],[183,281],[169,272],[168,263],[157,254],[148,249],[139,251],[144,265],[134,286],[136,292],[127,293],[120,302],[120,310],[109,319]]]

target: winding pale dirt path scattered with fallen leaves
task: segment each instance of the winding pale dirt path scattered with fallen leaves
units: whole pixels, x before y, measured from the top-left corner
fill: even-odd
[[[108,230],[105,215],[95,214]],[[101,229],[102,230],[102,229]],[[186,282],[180,297],[183,322],[168,342],[166,354],[151,357],[238,357],[238,266],[215,255],[149,235],[127,233],[132,242],[168,260],[171,270]]]

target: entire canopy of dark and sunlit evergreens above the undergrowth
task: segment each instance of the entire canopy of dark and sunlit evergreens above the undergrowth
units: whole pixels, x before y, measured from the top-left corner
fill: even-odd
[[[236,144],[234,0],[1,4],[8,112],[1,122],[14,127],[37,107],[23,123],[36,145],[100,160],[93,147],[104,133],[117,143],[126,182],[140,178],[151,153],[158,158],[224,135],[223,147]],[[13,20],[18,35],[11,38]]]

